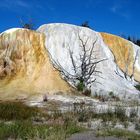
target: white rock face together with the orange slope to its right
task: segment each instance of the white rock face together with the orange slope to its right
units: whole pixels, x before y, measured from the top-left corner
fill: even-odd
[[[138,46],[121,38],[118,39],[118,37],[112,39],[112,36],[110,35],[111,47],[107,42],[109,35],[105,36],[105,34],[100,34],[88,28],[68,24],[46,24],[39,27],[38,31],[45,33],[46,35],[45,46],[49,51],[54,65],[56,63],[59,64],[57,66],[61,66],[60,68],[67,70],[71,75],[74,74],[74,70],[69,50],[72,51],[74,61],[76,62],[75,65],[78,66],[80,63],[79,56],[82,53],[79,36],[83,42],[86,42],[88,39],[87,49],[93,45],[93,42],[97,38],[97,42],[94,46],[96,53],[93,53],[92,55],[98,59],[106,58],[107,60],[97,65],[98,70],[102,73],[99,76],[93,75],[92,77],[97,79],[91,86],[92,94],[95,92],[108,94],[112,91],[120,97],[131,98],[133,96],[134,98],[137,98],[139,96],[139,92],[134,87],[135,81],[133,78],[132,80],[130,78],[135,54],[136,51],[139,50]],[[118,44],[120,49],[118,49]],[[129,49],[130,51],[128,51]],[[124,68],[128,55],[130,60],[128,62],[128,78],[126,79]],[[134,78],[137,81],[139,81],[139,59],[140,56],[138,55],[134,64]],[[72,85],[74,84],[71,81],[69,81],[69,83]]]

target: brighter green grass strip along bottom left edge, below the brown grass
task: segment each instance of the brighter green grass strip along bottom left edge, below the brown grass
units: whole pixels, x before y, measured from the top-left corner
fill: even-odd
[[[65,137],[73,133],[80,132],[82,129],[73,123],[68,127],[63,125],[35,125],[30,121],[0,123],[0,139],[49,139],[65,140]]]

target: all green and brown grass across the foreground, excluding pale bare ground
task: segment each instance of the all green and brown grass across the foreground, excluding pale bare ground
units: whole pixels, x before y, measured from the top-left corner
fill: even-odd
[[[108,110],[97,114],[82,103],[74,104],[74,110],[70,112],[54,109],[49,113],[48,108],[29,107],[22,102],[0,102],[0,140],[66,140],[74,133],[88,130],[82,124],[86,122],[90,126],[89,122],[94,119],[100,119],[104,126],[97,130],[97,136],[140,140],[140,135],[135,132],[112,129],[117,122],[127,127],[129,121],[135,122],[135,117],[135,111],[132,111],[131,118],[128,118],[120,106],[114,112]],[[111,128],[110,122],[113,124]],[[137,130],[140,130],[139,125]]]

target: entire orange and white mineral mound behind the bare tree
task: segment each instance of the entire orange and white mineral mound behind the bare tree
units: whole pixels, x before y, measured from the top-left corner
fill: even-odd
[[[12,29],[0,34],[0,99],[70,93],[77,82],[67,78],[75,74],[70,52],[78,68],[82,42],[86,42],[87,50],[94,47],[92,57],[105,59],[96,66],[100,73],[93,73],[89,79],[96,79],[87,85],[92,94],[113,92],[126,98],[139,96],[134,87],[140,82],[138,46],[88,28],[46,24],[37,31]],[[80,68],[77,73],[81,73]]]

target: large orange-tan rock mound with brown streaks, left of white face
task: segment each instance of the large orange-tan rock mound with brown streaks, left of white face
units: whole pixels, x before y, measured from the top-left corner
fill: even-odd
[[[68,90],[69,85],[51,64],[44,34],[13,29],[0,35],[1,98]]]

